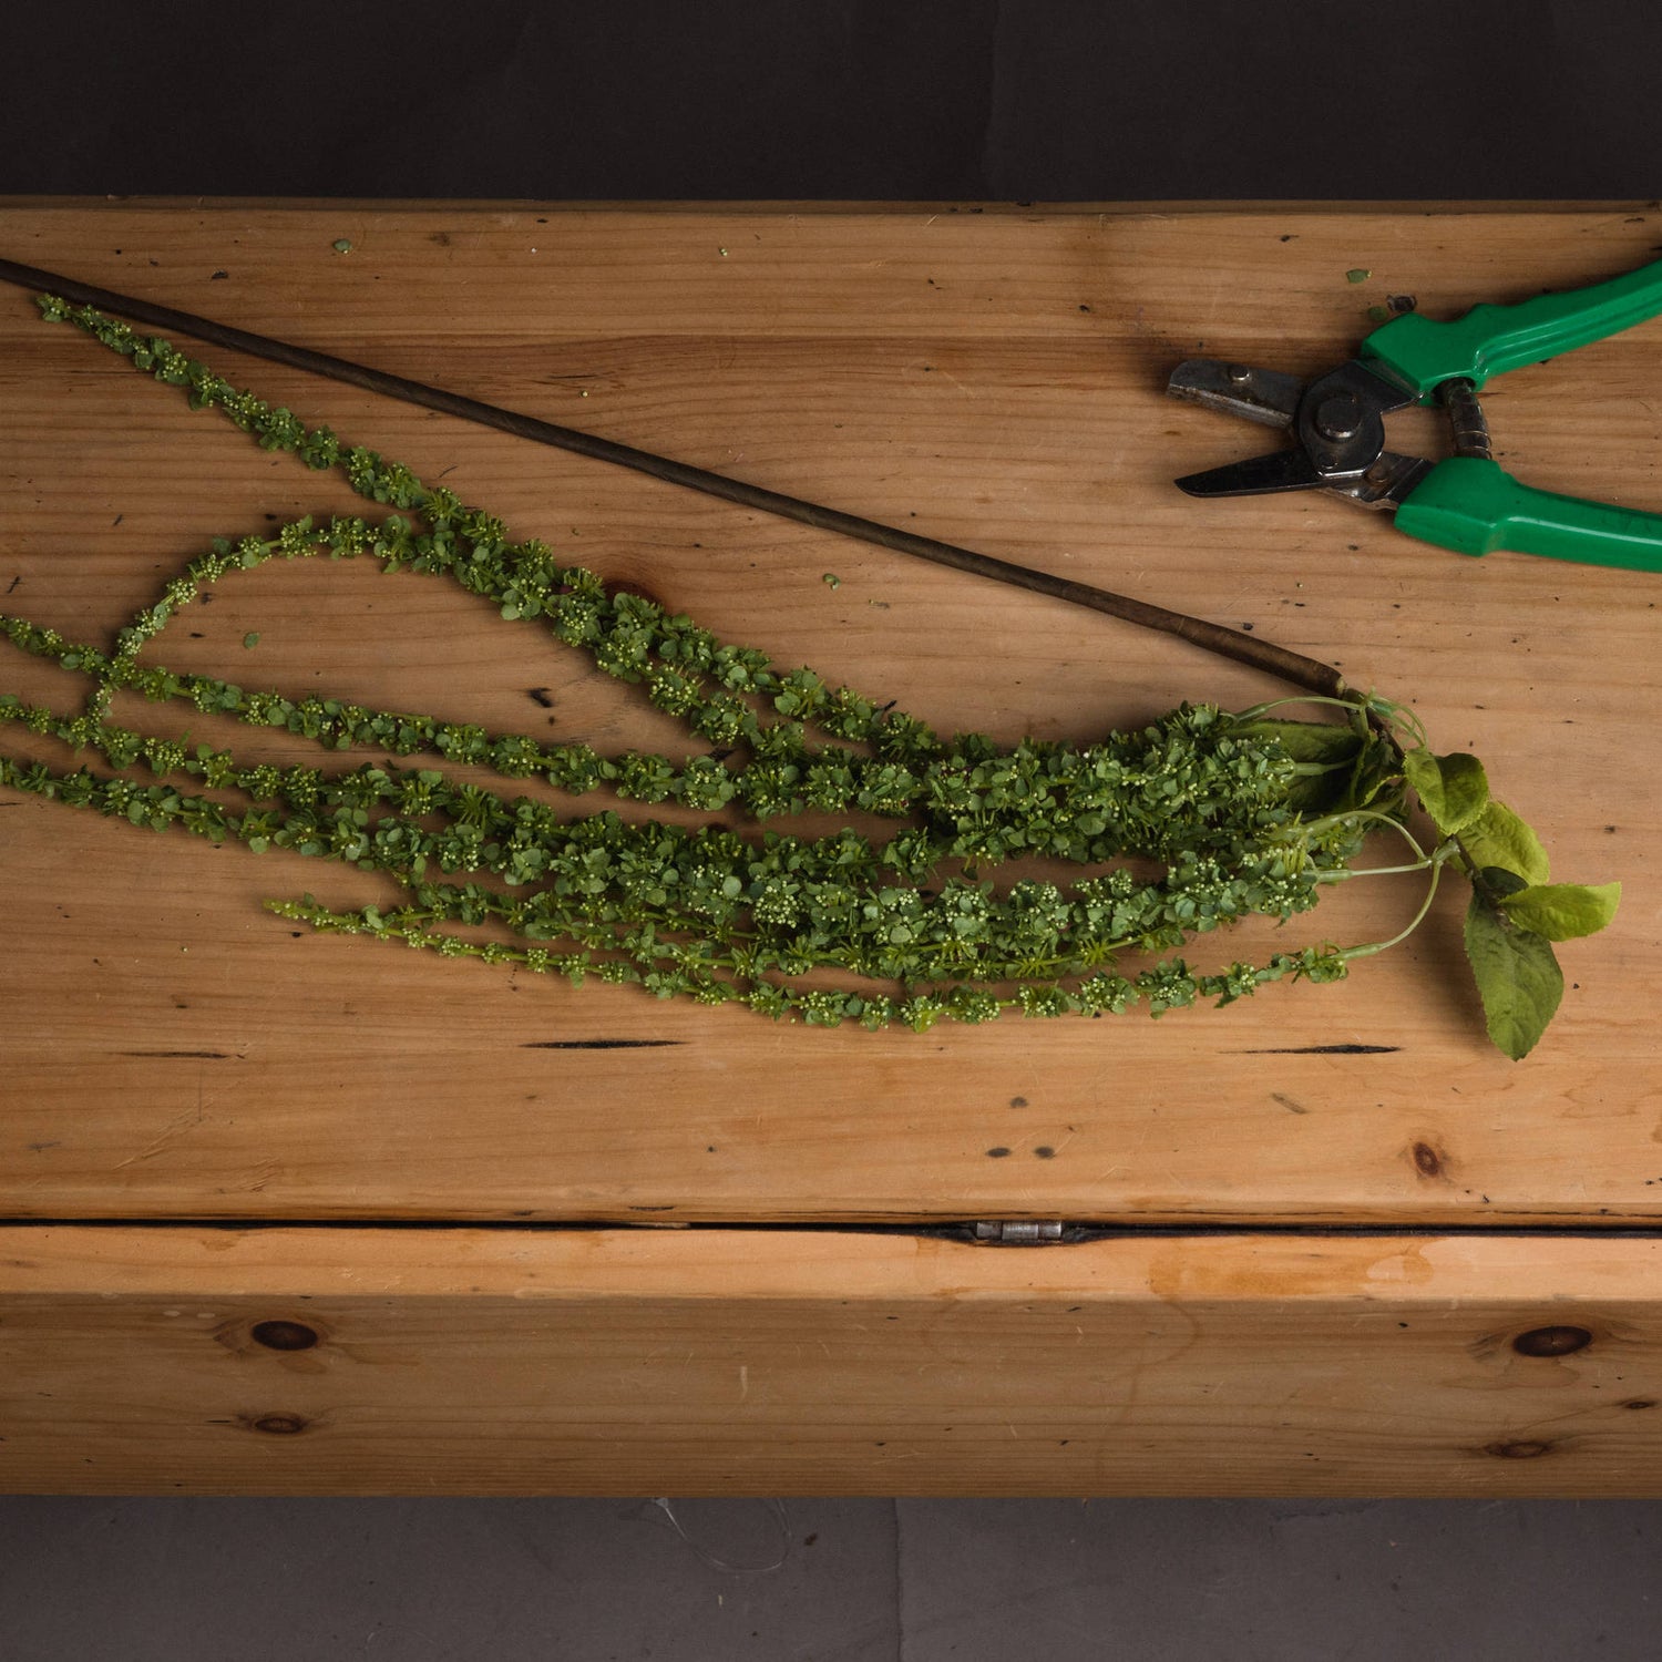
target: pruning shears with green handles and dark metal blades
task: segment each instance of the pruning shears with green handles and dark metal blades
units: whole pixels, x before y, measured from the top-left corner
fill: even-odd
[[[1567,294],[1474,306],[1434,322],[1404,312],[1356,357],[1315,381],[1192,357],[1167,392],[1227,416],[1283,427],[1293,447],[1190,474],[1193,497],[1333,490],[1396,515],[1396,529],[1459,553],[1511,548],[1587,565],[1662,572],[1662,514],[1586,502],[1521,484],[1496,462],[1478,392],[1491,376],[1602,341],[1662,312],[1662,261]],[[1441,404],[1454,455],[1428,462],[1384,447],[1384,417]]]

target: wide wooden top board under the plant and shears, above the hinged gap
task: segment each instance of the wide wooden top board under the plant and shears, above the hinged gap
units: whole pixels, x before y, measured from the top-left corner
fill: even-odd
[[[1444,316],[1655,241],[1655,214],[1605,208],[7,206],[12,258],[1250,623],[1409,698],[1439,745],[1489,761],[1561,876],[1627,896],[1612,932],[1566,949],[1564,1015],[1516,1067],[1481,1037],[1454,907],[1346,986],[1218,1014],[828,1034],[296,941],[261,896],[376,892],[7,798],[0,1215],[1654,1222],[1655,580],[1464,560],[1328,499],[1193,504],[1172,475],[1251,435],[1160,387],[1202,347],[1308,371],[1386,294]],[[224,367],[726,638],[946,728],[1087,738],[1270,690],[1049,602]],[[1652,324],[1497,382],[1507,465],[1662,505],[1659,372]],[[0,296],[0,487],[5,605],[93,638],[206,537],[352,505],[20,294]],[[607,748],[673,738],[532,627],[505,650],[500,620],[430,580],[266,568],[179,633],[181,668]],[[1320,929],[1368,939],[1414,904],[1383,879],[1325,902]]]

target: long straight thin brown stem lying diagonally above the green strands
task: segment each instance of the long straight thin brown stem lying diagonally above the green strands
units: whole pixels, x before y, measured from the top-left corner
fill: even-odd
[[[974,548],[937,542],[934,537],[919,537],[916,532],[901,530],[896,525],[884,525],[879,520],[861,519],[858,514],[844,514],[839,509],[828,509],[818,502],[806,502],[801,497],[766,490],[761,485],[730,479],[726,474],[715,474],[703,467],[676,462],[666,455],[655,455],[650,450],[637,450],[633,445],[617,444],[612,439],[598,439],[573,427],[560,427],[535,416],[524,416],[517,411],[500,409],[495,404],[484,404],[479,399],[447,392],[444,387],[427,386],[422,381],[409,381],[404,376],[392,376],[381,369],[349,362],[344,357],[332,357],[327,352],[314,352],[309,347],[278,341],[271,336],[251,334],[246,329],[236,329],[211,317],[198,317],[193,312],[176,311],[171,306],[156,306],[151,301],[135,299],[130,294],[100,289],[75,278],[40,271],[35,266],[22,266],[10,259],[0,259],[0,281],[15,283],[43,294],[57,294],[80,306],[96,306],[100,311],[118,312],[146,327],[188,334],[196,341],[206,341],[209,346],[223,346],[233,352],[246,352],[251,357],[288,364],[291,369],[326,376],[331,381],[344,381],[349,386],[364,387],[367,392],[379,392],[401,399],[406,404],[419,404],[424,409],[439,411],[444,416],[455,416],[460,420],[495,427],[500,432],[512,434],[515,439],[532,439],[557,450],[570,450],[575,455],[587,455],[597,462],[628,467],[652,479],[683,485],[688,490],[698,490],[710,497],[720,497],[725,502],[733,502],[760,514],[773,514],[779,519],[796,520],[801,525],[811,525],[816,530],[828,530],[841,537],[853,537],[858,542],[869,542],[894,553],[907,553],[919,560],[931,560],[936,565],[947,565],[972,577],[984,577],[997,583],[1025,588],[1032,593],[1049,595],[1052,600],[1065,600],[1070,605],[1087,607],[1092,612],[1104,612],[1109,617],[1122,618],[1140,628],[1177,635],[1180,640],[1187,640],[1207,652],[1251,665],[1255,670],[1263,670],[1313,693],[1338,696],[1345,691],[1345,678],[1338,670],[1328,663],[1321,663],[1318,658],[1306,658],[1303,653],[1276,647],[1271,642],[1260,640],[1256,635],[1227,628],[1222,623],[1210,623],[1205,618],[1188,617],[1183,612],[1170,612],[1165,607],[1133,600],[1128,595],[1117,595],[1092,583],[1054,577],[1049,572],[1035,572],[1030,567],[1017,565],[1012,560],[1001,560],[991,553],[977,553]]]

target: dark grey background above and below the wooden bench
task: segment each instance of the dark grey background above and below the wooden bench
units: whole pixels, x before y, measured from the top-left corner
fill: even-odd
[[[1649,201],[1659,18],[13,0],[0,194]],[[1662,1502],[0,1497],[0,1657],[1642,1662],[1659,1544]]]

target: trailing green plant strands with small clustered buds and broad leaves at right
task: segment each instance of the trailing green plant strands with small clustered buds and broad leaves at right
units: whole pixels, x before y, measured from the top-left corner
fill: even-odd
[[[1434,755],[1418,716],[1388,700],[1301,695],[1235,713],[1180,705],[1084,746],[942,736],[892,701],[808,668],[781,670],[688,617],[608,592],[545,543],[510,538],[484,509],[327,427],[306,427],[166,341],[90,307],[40,304],[264,449],[339,470],[389,510],[304,517],[213,542],[133,615],[113,650],[0,613],[0,633],[15,647],[90,683],[73,716],[0,695],[0,725],[57,736],[101,763],[57,770],[0,755],[0,786],[158,833],[288,849],[386,879],[384,901],[357,911],[311,896],[268,902],[316,931],[774,1019],[924,1030],[1006,1012],[1160,1015],[1230,1004],[1283,979],[1338,981],[1408,936],[1454,869],[1473,889],[1466,944],[1489,1032],[1516,1057],[1539,1039],[1562,992],[1552,942],[1614,916],[1615,884],[1547,884],[1539,839],[1492,801],[1481,763]],[[602,755],[153,661],[148,648],[203,590],[273,558],[369,558],[386,572],[455,582],[638,688],[683,723],[690,753]],[[834,583],[834,573],[824,577]],[[251,632],[244,645],[256,640]],[[231,750],[113,723],[116,693],[181,701],[284,730],[329,755],[367,750],[374,760],[347,771],[249,765]],[[1311,703],[1328,705],[1330,718],[1278,715]],[[435,765],[406,765],[412,756]],[[452,771],[460,766],[489,770],[502,788],[464,783]],[[515,781],[723,818],[670,826],[610,806],[572,818],[515,793]],[[1428,843],[1411,829],[1416,801],[1436,831]],[[871,836],[766,824],[801,813],[896,824]],[[733,818],[760,829],[733,829]],[[1396,838],[1406,858],[1358,866],[1374,833]],[[1020,876],[1030,859],[1089,874],[1065,884]],[[1001,868],[1014,868],[1015,881],[997,886],[991,873]],[[1290,922],[1330,884],[1386,871],[1426,876],[1419,912],[1389,941],[1315,941],[1213,971],[1182,956],[1243,917]],[[494,937],[480,937],[479,926]]]

